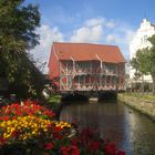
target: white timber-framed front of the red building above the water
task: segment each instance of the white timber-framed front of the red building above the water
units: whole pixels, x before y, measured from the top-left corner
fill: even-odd
[[[97,55],[96,55],[97,56]],[[99,58],[99,56],[97,56]],[[121,84],[121,78],[123,73],[116,71],[117,66],[110,68],[107,63],[103,63],[99,58],[100,63],[95,62],[96,64],[93,65],[93,61],[86,62],[89,65],[84,64],[83,62],[75,62],[74,59],[71,56],[70,61],[60,62],[60,87],[63,91],[89,91],[89,89],[93,89],[94,91],[97,90],[108,90],[114,89],[116,85]],[[81,63],[81,64],[80,64]],[[65,64],[65,65],[64,65]],[[76,65],[78,64],[78,65]],[[99,65],[100,64],[100,65]],[[104,65],[104,69],[103,69]],[[115,64],[121,65],[121,64]],[[89,66],[89,70],[86,70]],[[93,70],[97,72],[93,72]],[[103,72],[104,70],[107,72]],[[82,71],[82,72],[79,72]],[[91,72],[92,71],[92,72]],[[100,71],[100,72],[99,72]],[[74,83],[74,78],[76,76],[76,83]],[[91,76],[91,78],[89,78]],[[86,78],[90,80],[87,81]],[[93,81],[91,80],[93,78]],[[108,78],[108,87],[107,87],[107,78]],[[116,82],[116,79],[118,81]],[[65,79],[65,80],[64,80]],[[75,84],[75,85],[74,85]]]

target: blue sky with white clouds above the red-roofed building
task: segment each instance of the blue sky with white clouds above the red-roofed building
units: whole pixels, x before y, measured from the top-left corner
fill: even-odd
[[[40,44],[30,53],[49,62],[53,42],[118,45],[130,60],[130,42],[142,20],[155,23],[155,0],[25,0],[39,6]],[[42,69],[48,72],[48,66]]]

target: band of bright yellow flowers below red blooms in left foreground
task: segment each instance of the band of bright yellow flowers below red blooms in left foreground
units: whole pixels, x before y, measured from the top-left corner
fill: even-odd
[[[54,140],[58,138],[55,136],[56,132],[63,132],[64,128],[70,127],[71,125],[65,122],[54,122],[37,116],[22,116],[11,121],[2,121],[0,123],[0,137],[6,140],[6,143],[37,140],[41,136]]]

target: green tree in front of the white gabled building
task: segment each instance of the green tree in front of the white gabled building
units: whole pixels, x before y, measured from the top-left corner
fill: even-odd
[[[151,75],[153,80],[153,94],[155,94],[155,34],[148,38],[151,48],[145,48],[136,52],[131,64],[136,70],[135,74]]]

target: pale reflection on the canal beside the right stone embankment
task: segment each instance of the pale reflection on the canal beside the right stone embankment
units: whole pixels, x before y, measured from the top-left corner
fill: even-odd
[[[127,115],[126,131],[135,155],[155,155],[155,122],[137,112]]]

